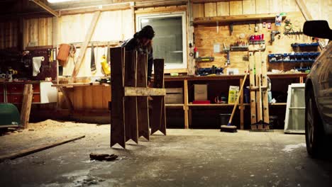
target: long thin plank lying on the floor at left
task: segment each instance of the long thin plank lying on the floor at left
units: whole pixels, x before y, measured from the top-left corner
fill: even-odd
[[[5,154],[3,156],[0,156],[0,162],[3,162],[6,159],[17,159],[19,157],[24,157],[28,154],[33,154],[35,152],[40,152],[40,151],[43,151],[45,149],[50,149],[52,147],[56,147],[58,145],[63,145],[63,144],[68,143],[68,142],[73,142],[75,140],[79,140],[79,139],[82,139],[84,137],[85,136],[80,136],[80,137],[70,138],[70,139],[67,139],[67,140],[66,139],[65,140],[60,140],[60,141],[57,141],[57,142],[48,143],[48,144],[41,145],[41,146],[38,146],[38,147],[31,147],[31,148],[28,148],[28,149],[23,149],[19,152],[14,152],[14,153],[11,153],[11,154]]]

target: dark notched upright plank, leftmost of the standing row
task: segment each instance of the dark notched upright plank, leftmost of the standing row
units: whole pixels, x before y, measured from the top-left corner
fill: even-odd
[[[124,48],[111,48],[111,147],[118,144],[126,148],[123,57]]]

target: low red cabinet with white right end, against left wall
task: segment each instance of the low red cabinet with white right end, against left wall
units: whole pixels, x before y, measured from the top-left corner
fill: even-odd
[[[52,82],[26,81],[0,83],[0,103],[22,103],[25,84],[33,85],[33,103],[57,102],[57,89],[52,87]]]

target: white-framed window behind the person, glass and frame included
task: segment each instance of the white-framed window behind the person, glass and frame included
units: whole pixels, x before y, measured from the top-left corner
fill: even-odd
[[[153,57],[165,59],[165,69],[187,69],[186,13],[137,16],[136,30],[153,26]]]

